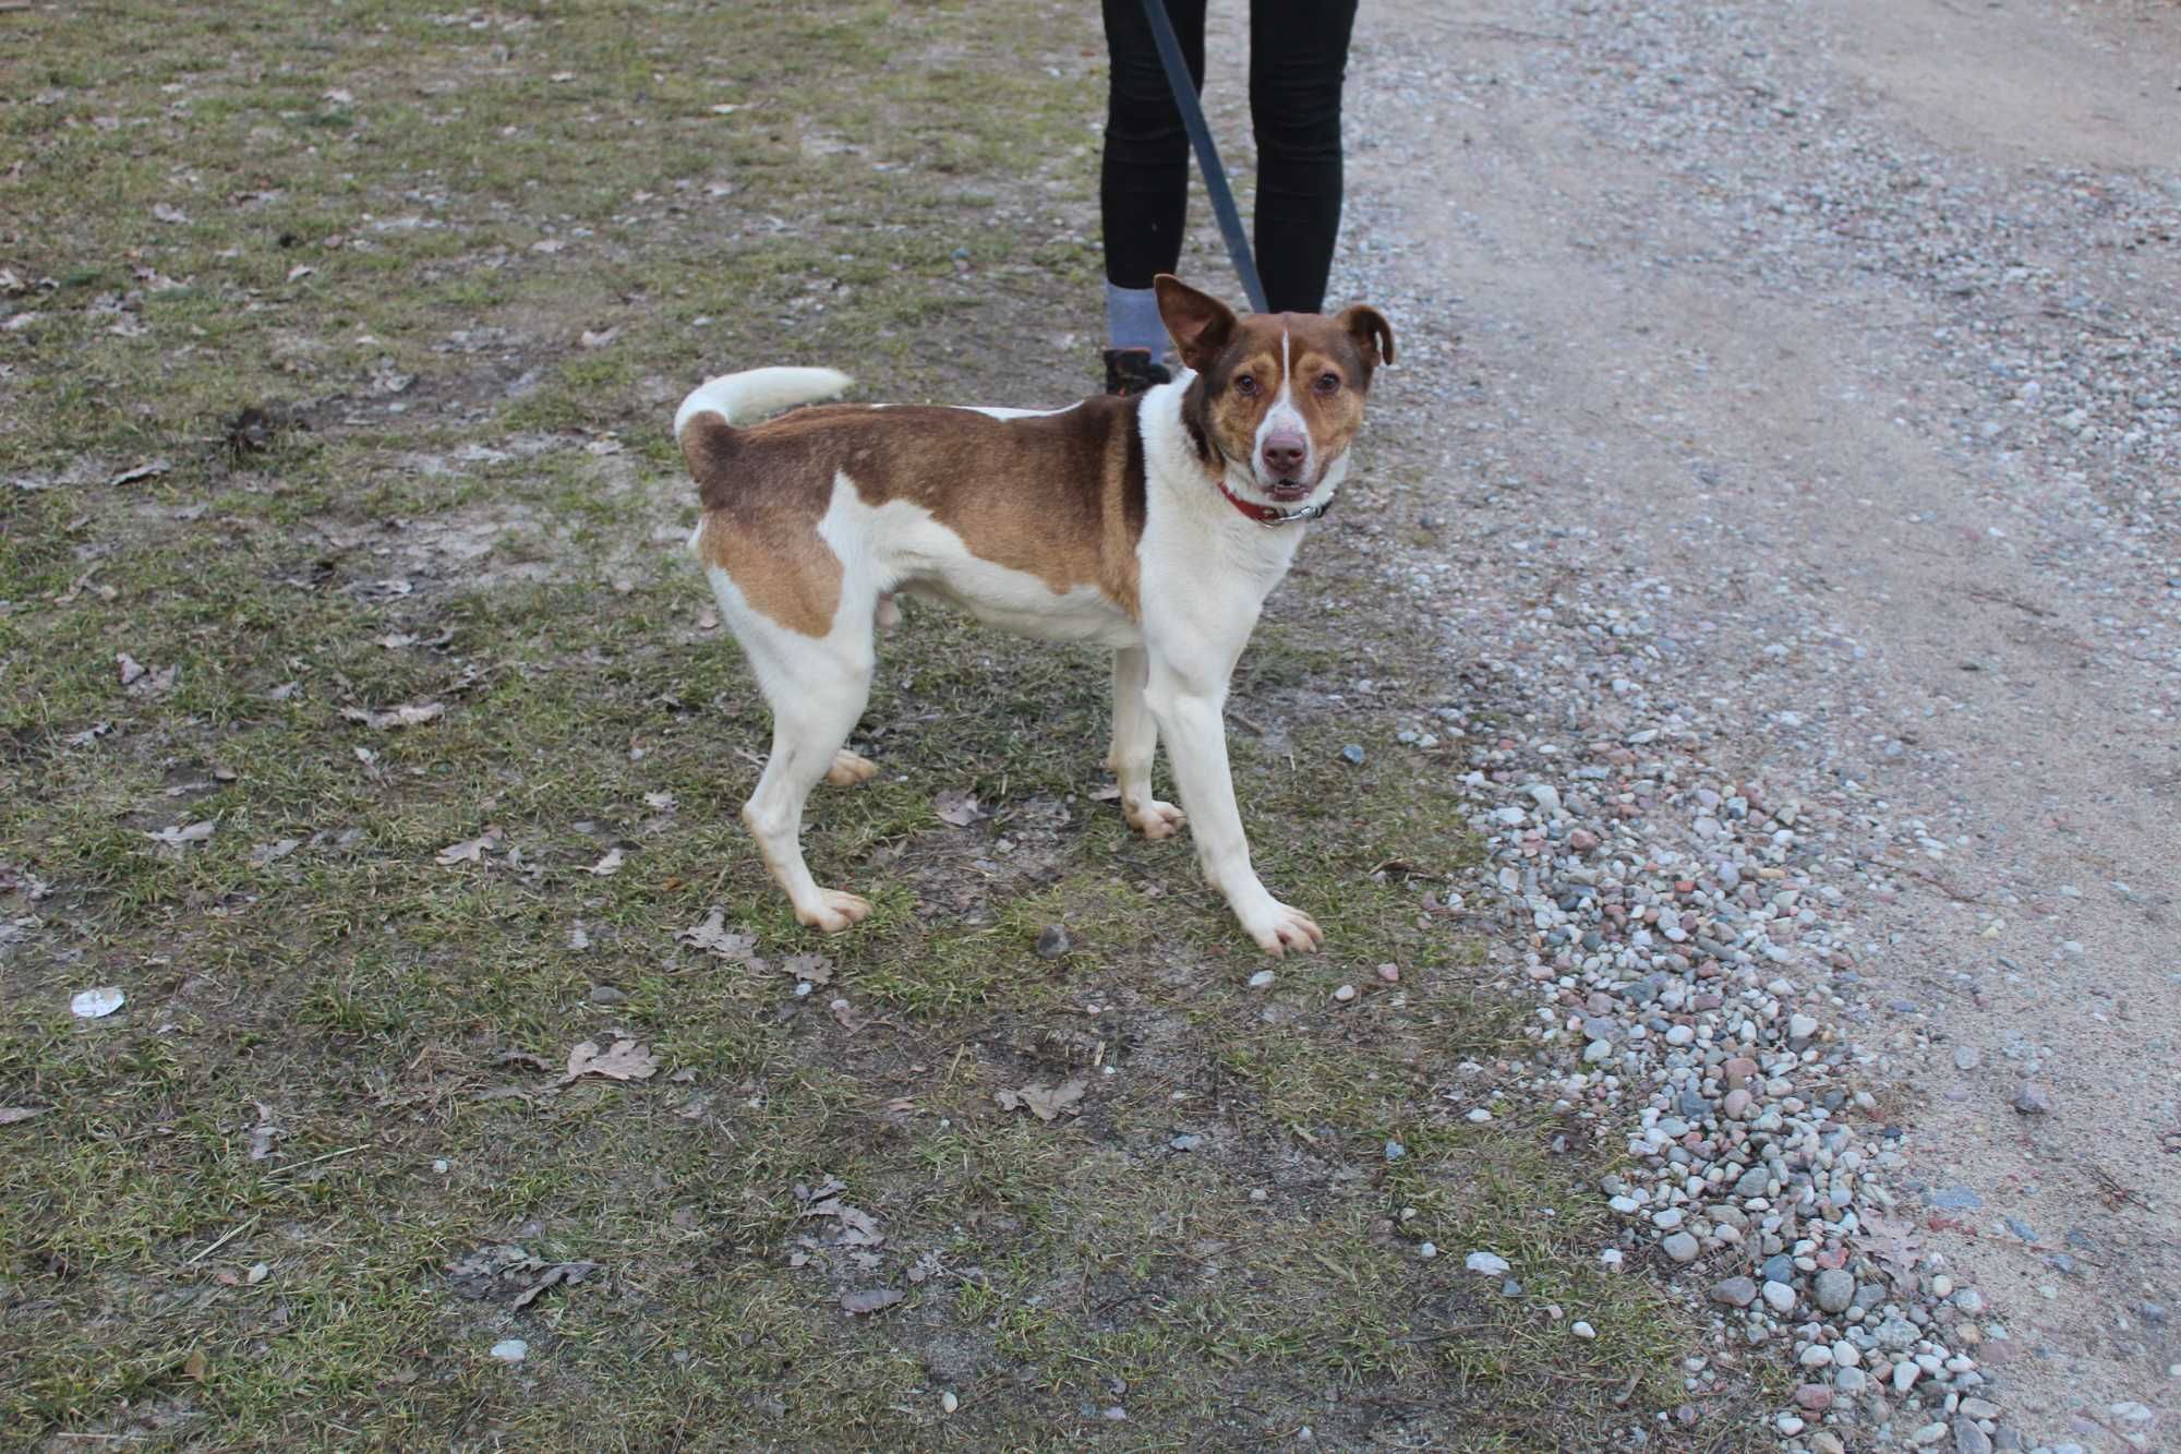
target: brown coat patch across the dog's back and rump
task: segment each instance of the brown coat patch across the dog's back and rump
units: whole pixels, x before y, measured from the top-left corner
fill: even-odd
[[[1134,397],[1019,419],[824,404],[746,430],[707,413],[683,430],[683,456],[704,502],[700,555],[792,631],[824,635],[840,609],[842,565],[818,535],[835,478],[866,504],[927,509],[975,557],[1053,594],[1090,585],[1136,618],[1145,465]]]

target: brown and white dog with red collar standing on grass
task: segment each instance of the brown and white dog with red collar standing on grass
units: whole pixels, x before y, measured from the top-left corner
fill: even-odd
[[[844,930],[870,904],[803,862],[818,779],[877,768],[846,751],[870,696],[875,624],[907,592],[1012,631],[1112,646],[1121,812],[1149,838],[1184,817],[1152,797],[1162,736],[1204,880],[1265,950],[1324,932],[1250,867],[1221,710],[1265,596],[1348,474],[1372,371],[1394,362],[1374,308],[1256,314],[1158,279],[1184,371],[1136,397],[1023,408],[790,404],[833,369],[715,378],[674,415],[704,513],[689,546],[772,705],[772,758],[742,810],[796,919]]]

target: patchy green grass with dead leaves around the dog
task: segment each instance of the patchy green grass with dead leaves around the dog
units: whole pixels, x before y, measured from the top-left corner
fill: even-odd
[[[1239,677],[1265,875],[1333,934],[1263,991],[1186,845],[1099,801],[1084,651],[912,607],[883,775],[814,808],[879,904],[851,937],[796,930],[735,821],[766,725],[674,552],[672,402],[779,358],[1080,393],[1095,22],[0,20],[11,1432],[1596,1447],[1677,1397],[1688,1330],[1594,1260],[1599,1159],[1494,1100],[1525,1041],[1435,897],[1474,845],[1396,742],[1429,664],[1346,681],[1383,624],[1289,609]],[[443,714],[347,716],[401,703]],[[748,954],[676,941],[713,906]],[[92,985],[126,1009],[72,1020]],[[659,1074],[554,1085],[617,1037]],[[1053,1122],[995,1100],[1071,1081]],[[598,1273],[517,1310],[449,1271],[499,1244]],[[870,1288],[903,1301],[840,1308]]]

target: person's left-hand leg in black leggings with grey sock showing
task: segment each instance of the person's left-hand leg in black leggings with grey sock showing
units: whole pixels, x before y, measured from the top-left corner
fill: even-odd
[[[1106,240],[1106,334],[1114,351],[1143,349],[1123,360],[1149,369],[1167,349],[1152,277],[1171,273],[1182,258],[1189,207],[1189,133],[1167,90],[1143,0],[1104,0],[1106,155],[1099,166],[1099,221]],[[1182,41],[1182,59],[1204,87],[1204,0],[1167,0],[1167,15]],[[1108,356],[1108,376],[1114,360]],[[1108,386],[1114,380],[1108,378]]]

